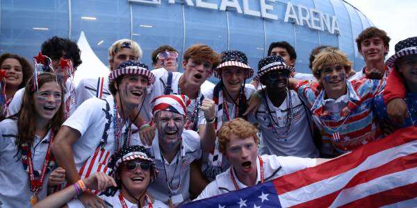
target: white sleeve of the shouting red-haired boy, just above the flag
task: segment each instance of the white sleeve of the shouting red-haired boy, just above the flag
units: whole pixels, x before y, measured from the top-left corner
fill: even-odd
[[[284,174],[294,173],[295,171],[300,171],[304,168],[316,166],[317,164],[316,159],[311,158],[293,156],[284,157],[276,155],[270,155],[270,157],[275,157],[274,162],[271,162],[271,164],[279,163],[279,166],[281,166]]]

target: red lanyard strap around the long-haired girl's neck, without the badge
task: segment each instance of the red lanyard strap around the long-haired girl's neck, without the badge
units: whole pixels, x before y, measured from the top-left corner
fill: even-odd
[[[38,193],[38,191],[40,189],[42,189],[42,184],[45,178],[45,175],[47,173],[47,167],[49,165],[49,161],[51,161],[51,143],[52,141],[54,141],[54,131],[51,130],[51,135],[50,135],[49,139],[49,144],[48,144],[48,150],[47,150],[47,155],[45,156],[45,160],[44,160],[44,164],[42,166],[42,173],[40,173],[40,178],[39,180],[35,180],[35,175],[33,173],[33,161],[32,161],[32,153],[31,153],[31,147],[27,146],[27,151],[28,151],[28,155],[27,155],[27,164],[28,164],[28,176],[29,176],[29,180],[31,182],[31,191]]]

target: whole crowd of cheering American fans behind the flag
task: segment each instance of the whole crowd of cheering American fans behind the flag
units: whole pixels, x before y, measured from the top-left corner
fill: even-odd
[[[4,53],[0,206],[178,207],[416,125],[417,37],[395,44],[386,61],[381,29],[356,42],[366,63],[356,71],[343,51],[318,46],[311,73],[297,72],[293,46],[273,42],[254,75],[242,51],[205,44],[186,49],[181,63],[160,46],[151,70],[137,42],[117,40],[108,77],[76,86],[82,61],[72,40],[46,40],[35,64]]]

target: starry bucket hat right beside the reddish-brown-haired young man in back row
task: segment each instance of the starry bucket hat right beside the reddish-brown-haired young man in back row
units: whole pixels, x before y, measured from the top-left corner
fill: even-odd
[[[246,69],[246,77],[251,78],[254,75],[254,69],[247,64],[247,57],[242,51],[224,51],[222,52],[222,62],[214,69],[214,76],[220,78],[223,67],[240,67]]]

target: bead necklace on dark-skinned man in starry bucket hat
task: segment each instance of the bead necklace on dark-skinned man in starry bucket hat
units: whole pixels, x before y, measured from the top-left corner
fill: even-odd
[[[277,135],[277,137],[279,139],[288,139],[288,134],[291,132],[291,128],[293,126],[293,101],[291,99],[291,92],[288,91],[288,89],[286,89],[286,92],[288,94],[287,97],[287,115],[286,115],[286,132],[284,132],[284,134],[278,132],[277,128],[279,128],[279,123],[277,121],[275,121],[274,117],[272,116],[272,112],[270,110],[269,107],[269,103],[268,103],[268,91],[266,91],[265,93],[265,105],[266,105],[266,110],[268,111],[268,115],[270,117],[270,121],[272,121],[272,123],[270,123],[270,128],[272,130],[272,132],[275,133],[275,135]],[[274,105],[274,103],[271,104]],[[275,114],[277,114],[277,112],[275,112]]]

